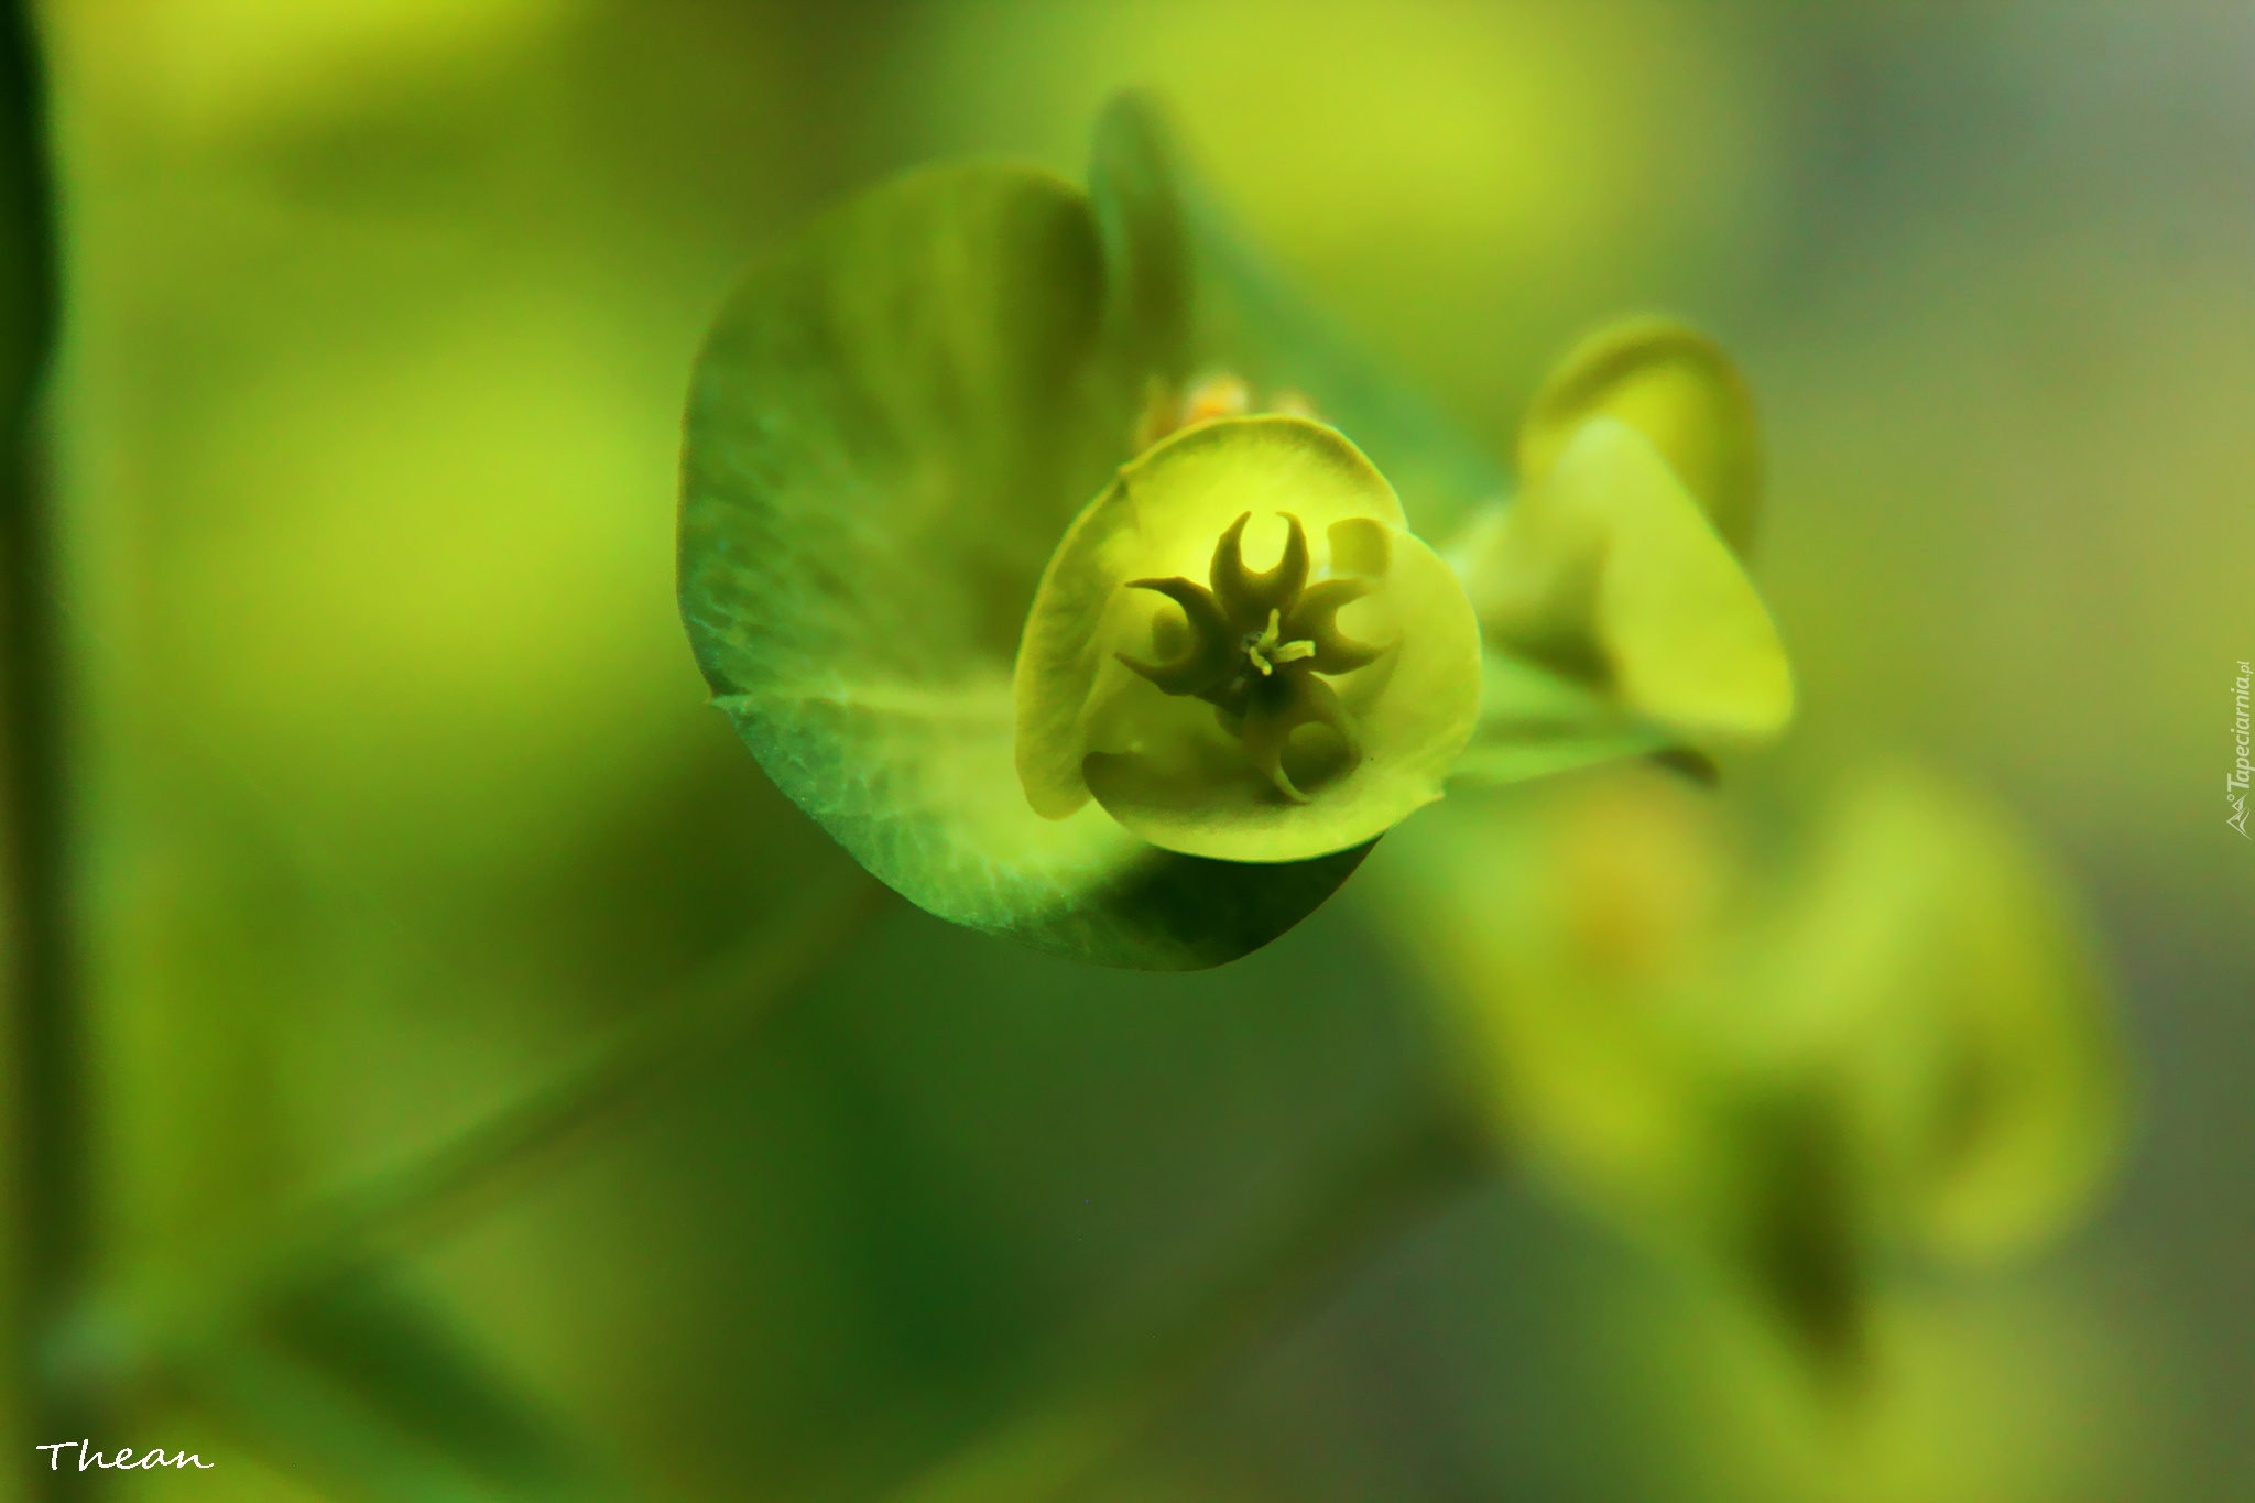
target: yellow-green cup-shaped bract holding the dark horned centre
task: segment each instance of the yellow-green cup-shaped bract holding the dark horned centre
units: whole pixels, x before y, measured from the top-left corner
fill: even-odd
[[[1123,466],[1042,577],[1017,658],[1028,802],[1164,850],[1303,861],[1441,795],[1479,626],[1394,487],[1303,417],[1195,424]]]

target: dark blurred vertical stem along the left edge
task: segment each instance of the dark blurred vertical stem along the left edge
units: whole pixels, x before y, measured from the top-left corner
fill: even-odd
[[[56,1332],[92,1260],[88,1041],[79,998],[65,642],[56,516],[41,473],[38,397],[56,324],[45,79],[29,5],[0,16],[0,845],[9,899],[9,1041],[16,1091],[16,1309],[20,1413],[38,1440],[92,1433],[92,1397],[65,1381]],[[65,1483],[34,1462],[32,1496]],[[77,1483],[70,1483],[77,1487]],[[83,1492],[81,1492],[83,1496]]]

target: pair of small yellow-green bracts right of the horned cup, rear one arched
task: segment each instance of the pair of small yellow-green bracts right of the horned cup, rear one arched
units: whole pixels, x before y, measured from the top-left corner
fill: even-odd
[[[1520,430],[1520,496],[1450,545],[1488,642],[1459,782],[1777,737],[1793,674],[1741,563],[1759,505],[1745,383],[1705,336],[1610,324]]]

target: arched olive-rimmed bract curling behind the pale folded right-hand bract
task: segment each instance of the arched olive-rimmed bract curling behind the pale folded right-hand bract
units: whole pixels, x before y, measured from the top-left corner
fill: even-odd
[[[1583,424],[1642,433],[1741,559],[1761,512],[1761,430],[1723,347],[1666,318],[1624,318],[1583,338],[1542,381],[1520,424],[1520,484],[1533,487]]]

